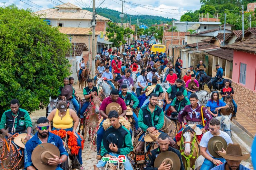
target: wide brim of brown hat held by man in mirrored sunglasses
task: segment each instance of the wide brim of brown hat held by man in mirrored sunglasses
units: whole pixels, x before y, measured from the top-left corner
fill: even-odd
[[[37,145],[37,147],[35,147],[32,152],[31,160],[32,160],[33,166],[36,167],[37,169],[55,170],[57,168],[57,165],[56,166],[46,165],[41,161],[41,154],[44,151],[50,151],[54,155],[60,157],[59,148],[57,148],[55,145],[50,143],[42,143]]]

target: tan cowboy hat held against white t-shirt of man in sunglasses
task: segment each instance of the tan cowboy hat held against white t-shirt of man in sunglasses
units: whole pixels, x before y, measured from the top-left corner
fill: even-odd
[[[214,136],[208,141],[208,151],[215,158],[221,158],[215,151],[226,150],[228,144],[226,140],[220,136]]]

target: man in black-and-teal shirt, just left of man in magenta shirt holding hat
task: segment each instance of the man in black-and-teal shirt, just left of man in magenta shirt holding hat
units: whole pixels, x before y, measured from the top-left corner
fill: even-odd
[[[167,89],[165,93],[165,100],[166,100],[165,111],[170,107],[178,91],[181,91],[185,97],[188,96],[187,90],[182,86],[182,83],[183,81],[181,79],[177,79],[176,84]],[[169,94],[171,94],[171,97],[170,97],[171,100],[169,100]]]

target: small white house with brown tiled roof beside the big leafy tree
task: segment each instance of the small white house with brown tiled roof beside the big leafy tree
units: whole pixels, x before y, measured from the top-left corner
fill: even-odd
[[[78,80],[77,71],[80,69],[79,63],[81,62],[82,58],[86,57],[86,54],[88,54],[88,48],[85,43],[71,43],[71,54],[69,50],[69,53],[66,54],[66,58],[69,60],[71,65],[70,76],[73,77],[75,81]],[[86,65],[88,66],[89,64],[86,63]]]

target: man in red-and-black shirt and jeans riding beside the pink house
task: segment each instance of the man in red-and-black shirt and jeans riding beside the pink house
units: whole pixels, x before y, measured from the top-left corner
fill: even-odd
[[[220,94],[222,96],[222,98],[220,99],[221,101],[224,101],[225,100],[225,97],[227,95],[230,95],[230,97],[232,97],[232,102],[234,104],[234,115],[233,115],[233,118],[236,120],[237,117],[236,117],[236,111],[237,111],[237,104],[235,102],[235,100],[233,99],[233,95],[234,95],[234,89],[233,87],[229,86],[229,81],[226,81],[225,82],[225,87],[223,87],[221,90],[220,90]]]

